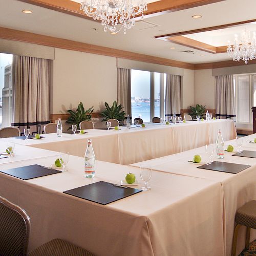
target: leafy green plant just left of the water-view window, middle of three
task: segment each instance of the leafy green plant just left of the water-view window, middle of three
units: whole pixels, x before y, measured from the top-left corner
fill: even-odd
[[[122,111],[123,106],[117,105],[117,102],[114,101],[110,107],[108,103],[105,102],[105,109],[101,112],[101,116],[104,117],[102,122],[108,121],[111,118],[117,119],[118,121],[123,121],[125,117],[125,112]]]

